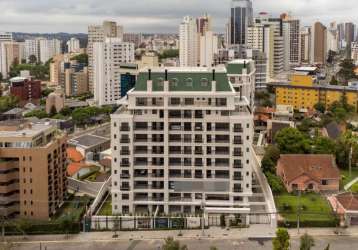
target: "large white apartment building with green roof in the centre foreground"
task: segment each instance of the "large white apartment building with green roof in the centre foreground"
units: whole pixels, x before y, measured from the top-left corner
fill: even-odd
[[[141,71],[111,133],[113,214],[205,209],[249,223],[253,115],[225,68]]]

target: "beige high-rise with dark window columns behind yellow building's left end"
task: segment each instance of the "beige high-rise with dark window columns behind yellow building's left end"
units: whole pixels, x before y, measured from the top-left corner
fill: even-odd
[[[300,20],[288,14],[282,14],[285,46],[285,69],[289,70],[301,63]]]

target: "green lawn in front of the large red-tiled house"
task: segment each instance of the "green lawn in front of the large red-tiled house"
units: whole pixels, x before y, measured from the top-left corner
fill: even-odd
[[[331,225],[335,220],[328,201],[318,194],[302,194],[300,198],[292,194],[282,194],[275,197],[275,203],[280,215],[289,224],[297,221],[298,204],[301,206],[302,226],[325,226],[325,223]]]

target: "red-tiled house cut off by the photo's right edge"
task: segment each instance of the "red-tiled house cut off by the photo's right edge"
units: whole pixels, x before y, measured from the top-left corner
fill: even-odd
[[[358,194],[342,193],[330,196],[328,200],[339,215],[341,226],[358,225]]]

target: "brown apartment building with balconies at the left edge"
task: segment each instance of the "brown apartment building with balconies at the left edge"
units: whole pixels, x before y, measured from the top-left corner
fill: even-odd
[[[0,216],[48,219],[67,190],[66,136],[48,123],[0,122]]]

